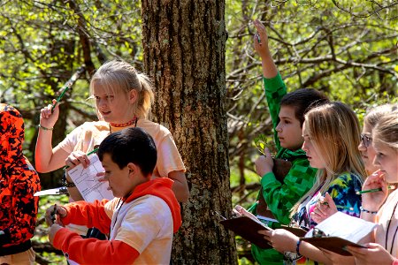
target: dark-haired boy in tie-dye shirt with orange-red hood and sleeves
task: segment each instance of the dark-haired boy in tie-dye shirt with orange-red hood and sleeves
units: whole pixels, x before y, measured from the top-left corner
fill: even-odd
[[[80,264],[169,264],[180,205],[170,178],[150,180],[157,163],[152,137],[138,127],[111,133],[98,156],[116,198],[57,206],[56,223],[50,218],[54,208],[49,208],[50,243]],[[69,223],[95,226],[108,240],[82,239],[63,227]]]

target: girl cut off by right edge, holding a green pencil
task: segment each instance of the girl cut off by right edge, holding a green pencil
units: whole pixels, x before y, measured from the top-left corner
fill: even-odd
[[[363,190],[381,188],[375,193],[363,193],[361,218],[379,223],[373,242],[366,248],[348,246],[357,264],[398,264],[398,191],[388,195],[387,183],[398,182],[398,110],[381,117],[372,132],[376,152],[374,164],[379,174],[366,179]],[[384,203],[384,201],[386,201]],[[383,205],[384,203],[384,205]]]

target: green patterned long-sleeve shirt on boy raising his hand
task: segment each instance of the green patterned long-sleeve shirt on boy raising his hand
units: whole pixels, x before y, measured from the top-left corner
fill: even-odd
[[[279,123],[280,101],[287,94],[287,87],[280,74],[272,79],[264,78],[265,95],[268,108],[272,117],[275,144],[278,150],[276,158],[285,159],[292,163],[292,168],[284,178],[283,183],[279,182],[273,172],[269,172],[261,179],[261,190],[258,196],[264,196],[268,208],[279,223],[290,223],[290,209],[302,196],[307,193],[315,181],[316,169],[310,167],[305,152],[302,149],[295,151],[280,147],[278,133],[275,128]],[[256,215],[256,208],[253,214]],[[268,223],[272,225],[271,223]],[[281,264],[283,255],[273,249],[262,249],[252,246],[252,254],[260,264]]]

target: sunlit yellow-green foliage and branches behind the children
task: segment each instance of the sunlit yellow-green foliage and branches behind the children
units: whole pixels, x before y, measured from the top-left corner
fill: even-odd
[[[258,151],[268,146],[274,152],[261,62],[252,44],[256,33],[252,19],[267,27],[272,56],[289,91],[318,88],[331,99],[348,103],[362,120],[365,110],[397,102],[394,6],[396,10],[394,1],[361,0],[226,1],[233,204],[249,207],[256,200],[256,189],[239,186],[259,182],[253,163],[261,154]],[[0,102],[23,113],[25,154],[32,161],[40,109],[59,95],[60,87],[81,64],[92,63],[94,70],[103,60],[122,57],[143,69],[141,5],[139,1],[21,0],[5,1],[1,7]],[[90,74],[81,76],[65,96],[64,116],[58,121],[64,125],[57,140],[83,121],[96,119],[93,102],[86,101]],[[54,200],[41,199],[41,205],[46,208]],[[237,242],[241,253],[248,249],[241,239]]]

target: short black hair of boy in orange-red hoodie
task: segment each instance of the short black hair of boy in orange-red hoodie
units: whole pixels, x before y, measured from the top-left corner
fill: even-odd
[[[98,157],[111,155],[111,160],[119,165],[119,169],[128,163],[138,165],[142,174],[152,174],[157,164],[157,147],[154,140],[142,128],[126,128],[108,135],[98,148]]]

